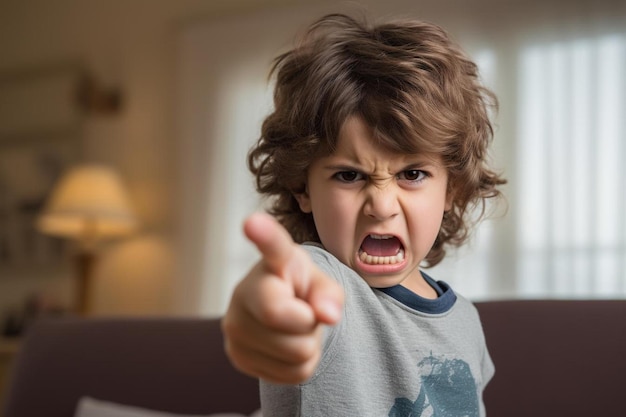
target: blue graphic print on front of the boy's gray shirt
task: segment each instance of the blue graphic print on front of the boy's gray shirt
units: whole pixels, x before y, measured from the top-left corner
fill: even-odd
[[[476,381],[461,359],[424,358],[418,365],[417,399],[396,398],[389,417],[478,417]]]

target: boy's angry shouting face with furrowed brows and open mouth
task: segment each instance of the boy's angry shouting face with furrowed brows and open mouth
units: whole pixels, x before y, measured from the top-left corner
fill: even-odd
[[[337,150],[313,162],[307,192],[321,243],[372,287],[419,286],[419,264],[450,208],[438,157],[389,152],[358,118],[343,126]]]

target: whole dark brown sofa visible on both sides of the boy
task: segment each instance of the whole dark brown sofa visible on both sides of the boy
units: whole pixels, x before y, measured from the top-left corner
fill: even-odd
[[[490,417],[626,416],[626,300],[476,304],[496,376]],[[81,397],[181,414],[259,407],[218,320],[57,319],[24,340],[5,417],[71,417]],[[271,417],[271,416],[266,416]]]

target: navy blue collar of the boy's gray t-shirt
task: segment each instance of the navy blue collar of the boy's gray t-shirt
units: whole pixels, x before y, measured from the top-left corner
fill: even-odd
[[[421,274],[428,285],[437,292],[437,298],[429,299],[420,297],[402,285],[376,289],[396,299],[405,306],[422,313],[442,314],[450,310],[456,302],[456,294],[452,291],[450,286],[443,281],[435,281],[424,272],[421,272]]]

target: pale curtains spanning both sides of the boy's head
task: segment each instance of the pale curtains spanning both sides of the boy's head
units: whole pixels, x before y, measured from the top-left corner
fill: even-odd
[[[611,25],[571,25],[530,12],[429,15],[370,3],[373,14],[409,12],[451,30],[500,100],[492,156],[509,179],[508,209],[429,273],[474,300],[626,296],[626,13],[600,13]],[[271,109],[270,61],[327,11],[336,9],[258,12],[182,32],[181,270],[190,310],[222,314],[258,259],[241,222],[259,207],[245,158]]]

